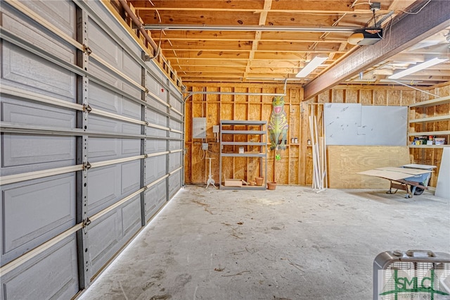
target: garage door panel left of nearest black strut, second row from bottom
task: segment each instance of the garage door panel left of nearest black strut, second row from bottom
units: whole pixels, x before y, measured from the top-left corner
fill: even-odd
[[[1,188],[1,263],[75,225],[75,174]]]

